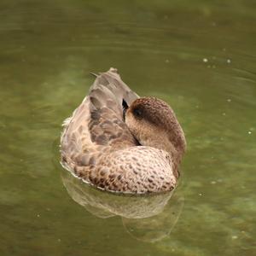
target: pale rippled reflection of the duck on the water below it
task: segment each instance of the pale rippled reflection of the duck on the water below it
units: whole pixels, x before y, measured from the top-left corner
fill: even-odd
[[[117,195],[84,184],[66,170],[61,177],[68,194],[98,218],[120,216],[125,230],[143,241],[159,241],[168,236],[183,210],[177,193],[159,195]],[[172,198],[172,200],[170,200]]]

